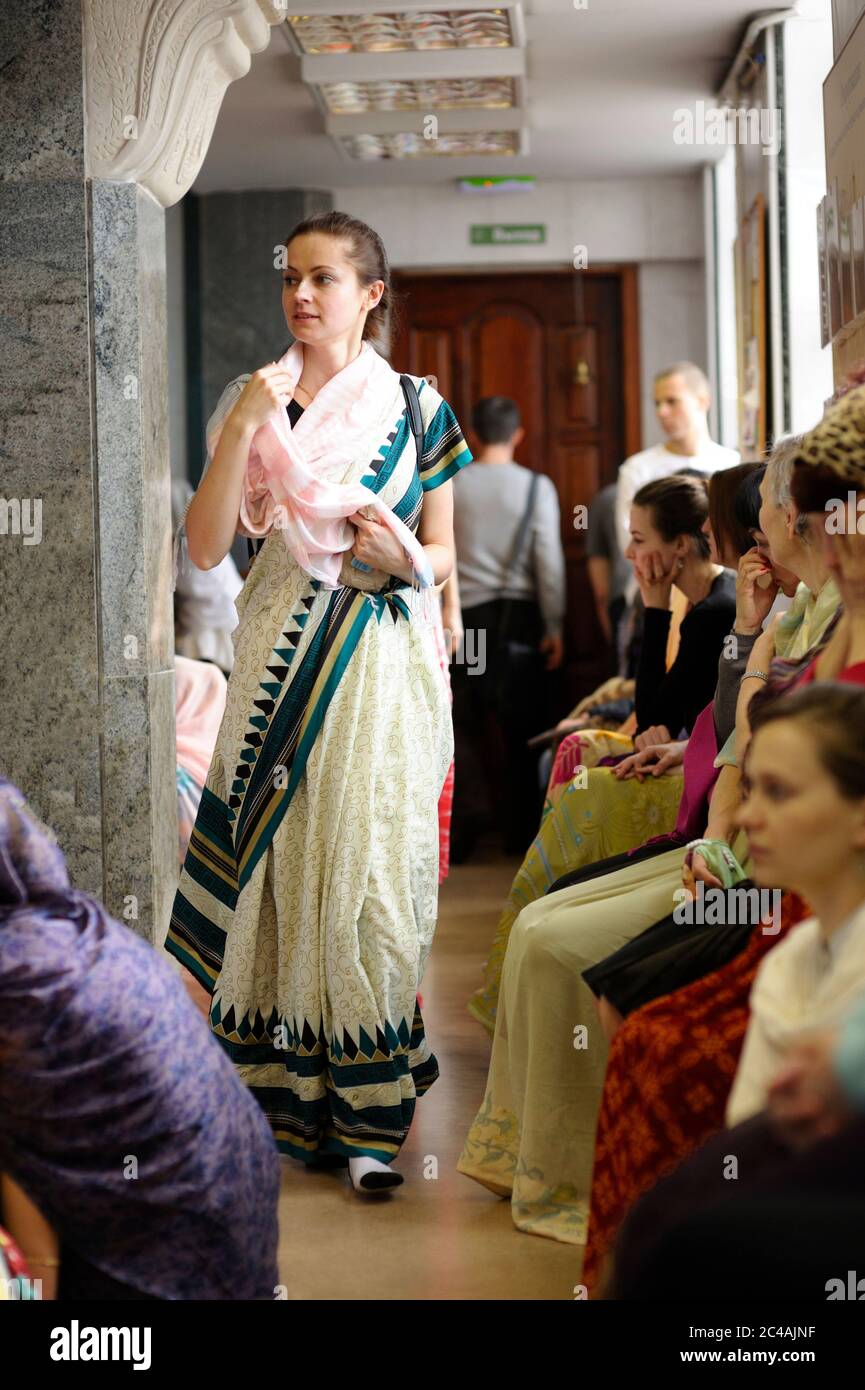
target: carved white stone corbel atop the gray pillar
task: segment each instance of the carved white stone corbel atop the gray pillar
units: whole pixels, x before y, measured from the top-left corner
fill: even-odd
[[[288,0],[83,0],[89,177],[177,203],[204,161],[228,83],[286,14]]]

